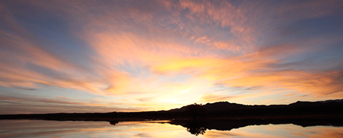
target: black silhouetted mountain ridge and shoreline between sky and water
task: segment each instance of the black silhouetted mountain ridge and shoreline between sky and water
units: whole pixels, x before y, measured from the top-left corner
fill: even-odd
[[[199,111],[191,111],[190,107]],[[55,113],[0,115],[0,119],[128,121],[128,120],[287,120],[287,119],[343,119],[343,99],[317,102],[298,101],[289,105],[243,105],[230,102],[192,104],[167,111]],[[200,112],[201,110],[201,112]]]

